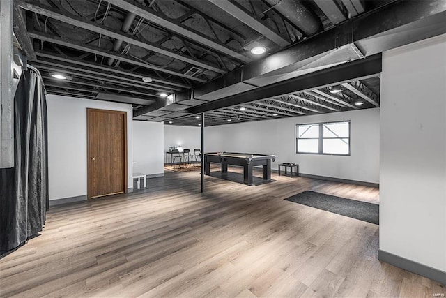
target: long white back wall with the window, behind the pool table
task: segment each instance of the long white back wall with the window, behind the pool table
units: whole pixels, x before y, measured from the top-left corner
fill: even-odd
[[[295,153],[295,125],[351,121],[351,156]],[[324,177],[379,183],[379,109],[337,112],[284,119],[210,126],[205,151],[275,154],[272,168],[298,163],[300,172]]]

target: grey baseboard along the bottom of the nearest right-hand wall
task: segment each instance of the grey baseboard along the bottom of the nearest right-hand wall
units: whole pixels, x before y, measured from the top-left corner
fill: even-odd
[[[446,272],[378,249],[378,260],[446,285]]]

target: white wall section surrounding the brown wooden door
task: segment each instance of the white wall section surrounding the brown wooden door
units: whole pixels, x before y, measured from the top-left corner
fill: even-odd
[[[48,95],[49,200],[87,193],[87,107],[127,112],[128,187],[133,185],[132,105]]]

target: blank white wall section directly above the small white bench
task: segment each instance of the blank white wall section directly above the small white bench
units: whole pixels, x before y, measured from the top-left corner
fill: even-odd
[[[164,174],[164,124],[133,121],[133,172]]]

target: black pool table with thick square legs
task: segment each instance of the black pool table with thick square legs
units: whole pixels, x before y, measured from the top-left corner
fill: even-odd
[[[235,152],[209,152],[204,156],[204,174],[210,175],[210,163],[220,163],[222,172],[228,172],[228,165],[243,167],[243,183],[252,184],[252,169],[256,165],[263,166],[263,179],[271,179],[271,161],[275,161],[275,155],[250,154]]]

